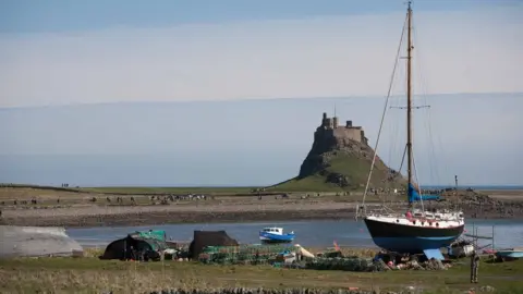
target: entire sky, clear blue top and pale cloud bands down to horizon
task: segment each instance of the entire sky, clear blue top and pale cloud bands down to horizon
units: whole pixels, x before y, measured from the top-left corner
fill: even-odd
[[[459,172],[464,183],[523,184],[514,151],[523,144],[523,1],[417,0],[413,9],[414,91],[445,113],[433,119],[449,162],[465,158],[439,172],[443,180],[422,182]],[[3,0],[0,182],[291,177],[336,97],[338,113],[375,137],[404,16],[403,0]],[[401,64],[394,95],[404,72]],[[457,103],[460,114],[448,118]],[[484,160],[496,171],[481,169]]]

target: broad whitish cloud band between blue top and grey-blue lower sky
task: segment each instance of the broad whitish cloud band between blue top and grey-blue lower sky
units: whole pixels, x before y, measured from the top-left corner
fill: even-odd
[[[523,91],[522,11],[416,13],[416,91]],[[391,13],[0,35],[0,107],[382,96],[403,20]]]

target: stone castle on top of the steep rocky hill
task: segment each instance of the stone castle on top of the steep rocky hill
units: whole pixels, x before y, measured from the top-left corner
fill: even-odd
[[[338,118],[327,118],[326,112],[324,112],[321,125],[316,128],[314,136],[315,139],[351,139],[368,145],[363,127],[352,125],[352,121],[346,121],[345,125],[340,126]]]

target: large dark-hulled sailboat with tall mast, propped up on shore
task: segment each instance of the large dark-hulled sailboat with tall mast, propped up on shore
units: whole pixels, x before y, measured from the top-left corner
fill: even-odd
[[[393,253],[401,254],[422,254],[427,257],[435,257],[442,259],[440,253],[441,247],[448,247],[462,233],[465,225],[463,212],[455,209],[447,210],[425,210],[423,208],[423,200],[438,199],[439,195],[422,195],[421,188],[414,183],[413,179],[413,144],[412,144],[412,8],[411,1],[408,2],[406,13],[408,26],[408,46],[406,46],[406,156],[408,156],[408,209],[404,212],[394,212],[380,210],[376,212],[368,212],[365,206],[363,210],[363,219],[374,243]],[[403,30],[404,32],[404,30]],[[403,40],[403,34],[402,34]],[[398,51],[400,52],[400,51]],[[396,70],[396,69],[394,69]],[[389,91],[390,94],[390,91]],[[387,109],[387,107],[386,107]],[[385,110],[384,110],[385,118]],[[381,120],[381,125],[382,121]],[[381,127],[380,127],[381,128]],[[379,133],[378,133],[379,140]],[[378,143],[376,143],[375,151],[377,152]],[[376,158],[376,156],[375,156]],[[374,162],[368,175],[367,186],[364,193],[365,196],[368,191],[368,184],[374,168]],[[422,208],[414,208],[416,204],[421,204]]]

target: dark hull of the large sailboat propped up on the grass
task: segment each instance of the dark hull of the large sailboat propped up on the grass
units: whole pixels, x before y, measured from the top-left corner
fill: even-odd
[[[384,249],[397,253],[418,254],[426,249],[439,249],[452,244],[464,230],[453,228],[421,228],[365,219],[374,243]]]

